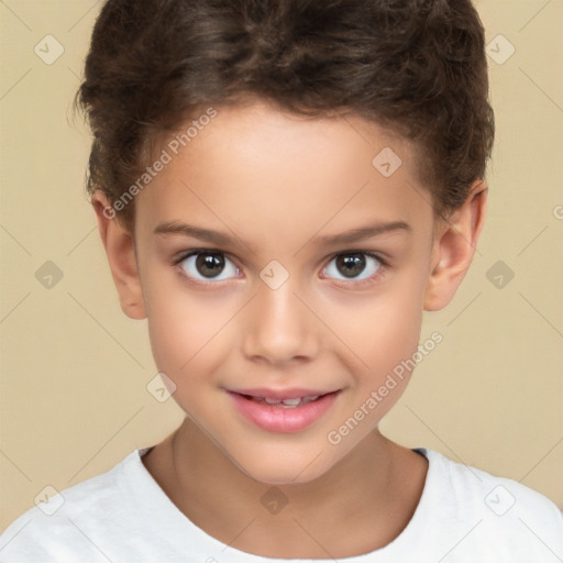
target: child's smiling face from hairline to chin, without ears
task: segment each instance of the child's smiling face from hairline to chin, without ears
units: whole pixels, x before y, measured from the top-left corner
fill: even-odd
[[[240,470],[306,482],[357,446],[408,383],[406,372],[368,400],[419,344],[430,195],[410,147],[360,118],[217,109],[177,155],[163,145],[172,159],[135,200],[153,354]],[[390,176],[373,164],[386,147],[401,159]]]

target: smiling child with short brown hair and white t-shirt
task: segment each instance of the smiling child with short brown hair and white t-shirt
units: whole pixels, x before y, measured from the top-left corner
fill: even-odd
[[[186,418],[1,561],[562,561],[551,500],[378,429],[478,241],[487,95],[470,0],[109,0],[88,188]]]

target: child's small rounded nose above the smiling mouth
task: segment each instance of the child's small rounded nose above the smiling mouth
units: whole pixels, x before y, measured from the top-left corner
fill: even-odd
[[[291,276],[277,289],[261,282],[245,319],[245,356],[277,365],[314,357],[320,322],[310,309]]]

